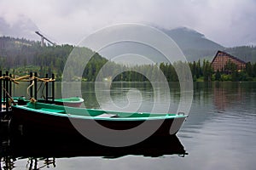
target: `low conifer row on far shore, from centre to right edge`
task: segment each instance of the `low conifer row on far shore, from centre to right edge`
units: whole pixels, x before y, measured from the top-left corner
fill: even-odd
[[[246,68],[242,71],[238,70],[236,65],[233,63],[227,63],[225,69],[222,71],[214,72],[211,66],[211,62],[208,60],[198,60],[197,62],[189,62],[189,68],[194,82],[211,82],[211,81],[256,81],[256,63],[247,63]],[[140,65],[131,67],[131,71],[124,71],[119,74],[118,77],[114,78],[114,81],[135,81],[135,82],[145,82],[145,81],[161,81],[160,71],[166,77],[168,82],[179,81],[177,77],[177,72],[175,70],[178,65],[183,65],[183,63],[161,63],[158,65]],[[159,70],[160,69],[160,70]],[[139,72],[137,72],[139,71]],[[143,72],[144,74],[141,74]],[[185,72],[185,71],[184,71]]]

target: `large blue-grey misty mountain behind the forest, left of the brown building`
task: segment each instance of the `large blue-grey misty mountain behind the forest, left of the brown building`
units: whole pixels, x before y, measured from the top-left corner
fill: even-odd
[[[185,27],[173,30],[159,29],[166,33],[167,36],[172,37],[189,61],[196,61],[206,57],[207,59],[212,59],[218,50],[224,49],[218,43],[208,40],[203,34]],[[125,32],[123,33],[125,34]],[[122,54],[138,54],[156,63],[168,62],[165,56],[154,50],[154,48],[137,42],[119,42],[102,49],[100,53],[108,59],[114,59]],[[129,64],[138,64],[135,57],[131,57],[130,60],[125,58],[125,61]]]

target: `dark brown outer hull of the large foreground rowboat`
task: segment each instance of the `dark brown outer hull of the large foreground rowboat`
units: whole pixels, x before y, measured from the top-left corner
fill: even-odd
[[[90,131],[90,133],[102,135],[96,126],[100,124],[102,127],[107,127],[114,130],[127,130],[133,127],[141,125],[143,120],[133,120],[133,121],[112,121],[109,120],[93,120],[93,119],[78,119],[69,116],[54,116],[48,115],[36,111],[27,111],[19,107],[13,107],[13,116],[11,121],[11,129],[15,133],[65,133],[68,135],[81,135],[85,131]],[[176,134],[179,128],[182,126],[185,117],[175,118],[175,129],[172,130],[171,135]],[[73,123],[79,125],[79,131],[77,126],[74,127]],[[98,124],[97,124],[97,123]],[[165,120],[147,120],[146,126],[140,128],[141,133],[147,133],[148,129],[152,126],[160,125],[158,129],[154,131],[153,136],[166,136],[170,135],[170,128],[174,122],[174,119]],[[173,128],[172,128],[173,129]],[[105,137],[108,138],[108,133],[104,133]],[[104,136],[103,135],[103,136]],[[102,136],[102,138],[104,138]]]

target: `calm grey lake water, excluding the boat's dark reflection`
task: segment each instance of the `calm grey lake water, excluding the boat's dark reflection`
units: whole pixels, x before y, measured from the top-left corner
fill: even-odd
[[[26,84],[15,87],[15,95],[26,95]],[[83,98],[87,108],[113,110],[151,111],[157,105],[157,112],[165,111],[169,104],[170,112],[177,110],[179,102],[178,83],[170,83],[171,104],[166,97],[166,89],[157,84],[153,88],[150,83],[102,83],[98,93],[101,102],[97,102],[94,83],[84,82]],[[110,88],[110,90],[106,90]],[[132,90],[130,90],[132,88]],[[135,90],[137,89],[137,90]],[[195,83],[194,100],[189,118],[177,133],[177,141],[183,146],[186,155],[180,156],[168,152],[172,148],[165,141],[155,144],[166,147],[162,156],[143,156],[129,154],[115,158],[101,155],[71,156],[50,158],[21,157],[12,160],[13,169],[252,169],[256,168],[256,83],[255,82],[213,82]],[[138,91],[140,93],[138,93]],[[112,101],[104,98],[110,94]],[[55,95],[61,97],[61,84],[55,86]],[[167,103],[169,102],[169,103]],[[137,105],[137,104],[140,105]],[[114,104],[114,105],[113,105]],[[130,107],[133,105],[133,107]],[[135,105],[135,106],[134,106]],[[79,142],[79,141],[78,141]],[[2,144],[4,151],[5,145]],[[82,147],[82,146],[81,146]],[[86,147],[86,146],[84,146]],[[149,144],[149,149],[158,146]],[[161,148],[162,149],[162,148]],[[64,150],[64,149],[63,149]],[[120,149],[121,150],[121,149]],[[165,153],[165,152],[163,152]],[[170,153],[170,154],[168,154]],[[152,157],[153,156],[153,157]],[[49,165],[46,165],[46,162]],[[54,163],[53,163],[54,162]],[[1,166],[8,162],[2,158]],[[36,165],[35,165],[36,164]],[[9,168],[12,169],[12,168]]]

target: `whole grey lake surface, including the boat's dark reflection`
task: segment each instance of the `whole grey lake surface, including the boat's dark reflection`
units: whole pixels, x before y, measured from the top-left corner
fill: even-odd
[[[83,83],[87,108],[124,109],[135,105],[138,111],[165,109],[166,90],[160,84],[103,83],[110,88],[115,104],[104,99],[102,88],[97,102],[93,83]],[[61,97],[61,84],[55,95]],[[140,91],[129,89],[135,89]],[[170,112],[177,110],[179,86],[170,84]],[[256,162],[256,83],[195,83],[189,118],[177,137],[152,139],[130,148],[106,149],[82,139],[53,138],[39,133],[27,139],[15,139],[14,145],[2,137],[3,169],[255,169]],[[75,89],[74,89],[75,90]],[[154,93],[154,90],[156,93]],[[128,93],[128,96],[127,96]],[[15,88],[16,95],[26,95],[26,84]],[[140,105],[137,103],[140,102]],[[127,107],[127,110],[131,107]],[[13,139],[12,139],[13,140]],[[15,156],[15,157],[14,157]],[[48,159],[47,159],[48,158]],[[9,167],[9,168],[7,168]]]

